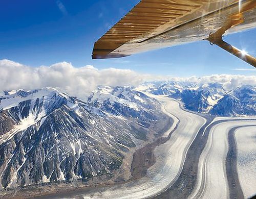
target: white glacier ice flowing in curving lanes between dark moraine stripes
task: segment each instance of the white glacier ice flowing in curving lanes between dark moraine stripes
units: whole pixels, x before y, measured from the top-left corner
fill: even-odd
[[[147,170],[146,176],[122,185],[95,188],[84,193],[70,193],[67,198],[164,198],[161,193],[173,191],[172,186],[179,178],[184,163],[189,162],[185,159],[193,159],[193,157],[186,156],[191,144],[195,139],[198,139],[199,132],[202,134],[201,137],[208,137],[205,137],[206,144],[202,148],[201,155],[198,155],[199,161],[194,162],[197,172],[193,191],[189,192],[189,195],[183,196],[189,198],[229,198],[227,176],[230,176],[230,173],[229,175],[226,173],[226,158],[230,147],[228,133],[232,128],[240,126],[243,127],[235,131],[238,148],[239,186],[242,187],[241,194],[246,197],[256,193],[256,189],[253,189],[253,183],[250,183],[256,182],[254,176],[256,172],[256,148],[255,141],[253,141],[256,136],[256,117],[215,118],[211,123],[208,121],[209,125],[207,125],[206,118],[181,109],[179,103],[174,99],[165,96],[153,96],[162,103],[163,112],[174,119],[174,126],[163,134],[167,137],[173,131],[169,140],[155,148],[156,163]],[[178,126],[174,130],[175,125]],[[249,148],[246,148],[247,143],[250,143]],[[54,196],[54,198],[59,197]]]

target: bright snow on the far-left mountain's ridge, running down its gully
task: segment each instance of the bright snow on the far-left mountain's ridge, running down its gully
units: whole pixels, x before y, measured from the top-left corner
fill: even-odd
[[[40,122],[38,124],[40,127],[47,118],[48,110],[51,110],[56,106],[56,102],[58,102],[60,99],[59,97],[64,97],[63,94],[59,93],[60,92],[57,90],[49,88],[31,91],[20,89],[17,91],[5,92],[6,95],[0,98],[0,110],[8,110],[18,106],[22,110],[18,112],[19,122],[12,128],[11,131],[0,136],[0,143],[6,142],[16,133],[28,129],[37,122]],[[37,101],[38,99],[39,102]],[[25,101],[30,101],[29,105],[20,104]],[[60,99],[59,102],[62,102],[62,100]],[[39,106],[40,103],[42,103],[42,106]],[[22,113],[25,108],[29,109],[28,115],[24,115],[24,113]],[[76,111],[76,113],[79,113],[78,111]]]

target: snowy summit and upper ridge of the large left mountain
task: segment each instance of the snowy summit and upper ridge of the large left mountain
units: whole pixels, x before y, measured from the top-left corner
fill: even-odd
[[[7,120],[10,122],[8,128],[0,132],[0,144],[31,126],[35,125],[38,129],[46,118],[58,109],[66,107],[67,111],[73,111],[79,116],[82,116],[80,109],[90,114],[103,114],[96,108],[53,88],[6,91],[5,95],[0,97],[0,107],[0,125],[6,125]]]

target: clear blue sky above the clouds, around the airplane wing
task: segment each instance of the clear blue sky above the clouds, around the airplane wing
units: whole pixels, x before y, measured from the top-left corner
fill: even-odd
[[[121,59],[92,60],[94,41],[138,2],[2,1],[0,59],[29,66],[49,66],[67,61],[76,67],[90,64],[99,69],[115,67],[179,77],[220,73],[255,75],[250,65],[206,41]],[[255,35],[256,29],[226,36],[225,40],[256,56]]]

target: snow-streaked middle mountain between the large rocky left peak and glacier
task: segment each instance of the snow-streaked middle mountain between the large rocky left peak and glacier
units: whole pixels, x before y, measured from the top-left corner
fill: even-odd
[[[159,118],[159,103],[133,87],[100,87],[88,98],[88,102],[104,112],[136,118],[140,125],[149,127]]]

